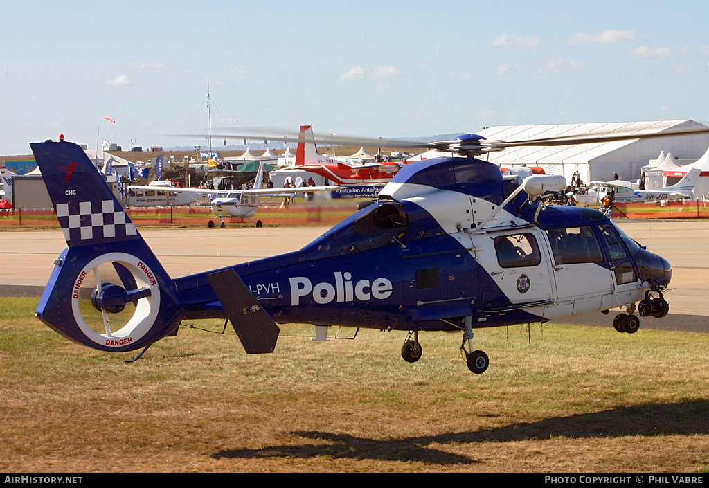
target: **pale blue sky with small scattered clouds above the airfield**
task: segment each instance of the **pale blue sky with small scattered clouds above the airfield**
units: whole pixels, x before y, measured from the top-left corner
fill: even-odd
[[[214,131],[708,123],[708,19],[706,1],[6,0],[0,155],[60,133],[205,144],[164,134],[206,131],[208,89]]]

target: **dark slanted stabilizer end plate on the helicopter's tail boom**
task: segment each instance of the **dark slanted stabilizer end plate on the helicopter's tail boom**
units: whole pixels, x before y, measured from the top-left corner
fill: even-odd
[[[281,329],[232,269],[207,275],[247,354],[273,353]]]

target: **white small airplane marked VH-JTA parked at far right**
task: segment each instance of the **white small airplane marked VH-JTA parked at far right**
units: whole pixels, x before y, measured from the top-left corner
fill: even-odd
[[[700,168],[692,168],[682,179],[671,187],[641,190],[627,185],[628,182],[615,180],[613,182],[591,182],[585,194],[575,194],[574,200],[584,205],[599,205],[611,194],[615,202],[679,200],[692,196],[694,185],[697,184]]]

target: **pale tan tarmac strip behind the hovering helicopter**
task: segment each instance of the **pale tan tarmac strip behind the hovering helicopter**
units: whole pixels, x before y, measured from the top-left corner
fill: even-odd
[[[640,318],[641,328],[709,333],[709,221],[615,220],[647,250],[673,268],[665,318]],[[171,277],[191,275],[240,262],[298,250],[326,227],[143,229],[140,234]],[[61,231],[0,232],[0,296],[40,296],[52,263],[66,248]],[[579,277],[583,279],[583,277]],[[563,323],[612,326],[610,314],[590,314]]]

